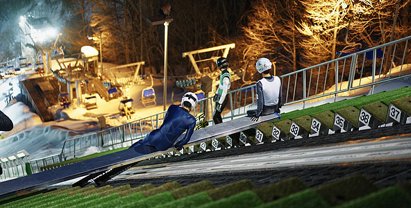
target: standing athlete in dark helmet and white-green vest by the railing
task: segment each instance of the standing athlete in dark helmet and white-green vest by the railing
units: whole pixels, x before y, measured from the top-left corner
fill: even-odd
[[[227,92],[228,89],[230,89],[230,83],[231,83],[231,76],[230,76],[230,71],[228,71],[228,60],[224,57],[220,57],[216,61],[217,67],[221,71],[221,76],[220,76],[220,83],[219,83],[219,88],[217,89],[217,92],[213,98],[215,102],[215,111],[214,114],[212,115],[212,121],[214,121],[215,124],[217,123],[223,123],[223,119],[221,118],[221,112],[224,110],[224,107],[226,107],[228,98],[227,98]]]

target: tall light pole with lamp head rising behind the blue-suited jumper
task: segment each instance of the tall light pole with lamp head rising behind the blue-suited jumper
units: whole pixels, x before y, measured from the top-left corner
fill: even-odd
[[[147,21],[153,26],[164,24],[164,88],[163,88],[163,110],[167,110],[167,40],[168,40],[168,31],[169,24],[173,21],[171,17],[171,6],[167,3],[165,6],[162,6],[158,9],[158,12],[161,16],[147,17]]]

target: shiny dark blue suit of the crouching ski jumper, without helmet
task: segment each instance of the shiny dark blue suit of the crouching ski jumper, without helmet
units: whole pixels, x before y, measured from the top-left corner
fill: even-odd
[[[164,151],[172,146],[181,148],[190,141],[195,126],[196,119],[190,112],[178,105],[170,105],[160,128],[151,131],[144,139],[137,141],[130,148],[142,154]],[[174,144],[185,130],[187,130],[185,137]]]

